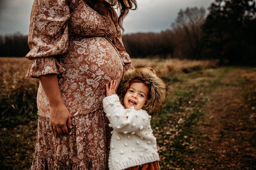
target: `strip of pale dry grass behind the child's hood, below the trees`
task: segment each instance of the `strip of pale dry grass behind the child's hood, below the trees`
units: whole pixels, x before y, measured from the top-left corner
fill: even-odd
[[[190,73],[217,67],[218,60],[179,60],[179,59],[132,59],[134,67],[152,67],[159,76],[172,73]]]

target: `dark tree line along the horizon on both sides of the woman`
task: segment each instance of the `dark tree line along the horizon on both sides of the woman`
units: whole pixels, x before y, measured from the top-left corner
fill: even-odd
[[[124,34],[132,58],[220,59],[256,63],[255,0],[215,0],[208,8],[180,10],[172,28],[159,33]],[[28,36],[0,36],[0,56],[28,53]]]

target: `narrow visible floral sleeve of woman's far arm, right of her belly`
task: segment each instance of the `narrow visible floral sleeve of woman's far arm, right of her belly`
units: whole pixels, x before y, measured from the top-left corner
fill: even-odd
[[[117,21],[115,22],[115,26],[116,26],[116,38],[114,39],[113,43],[116,47],[116,50],[118,50],[118,52],[121,56],[122,62],[124,63],[124,71],[127,69],[134,69],[134,67],[132,66],[132,63],[131,63],[132,60],[131,60],[129,54],[125,51],[124,44],[122,41],[121,28],[118,25]]]

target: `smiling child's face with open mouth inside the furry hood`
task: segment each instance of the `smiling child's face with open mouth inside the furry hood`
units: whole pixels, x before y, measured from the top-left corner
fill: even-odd
[[[128,109],[134,106],[135,110],[142,109],[148,99],[148,92],[148,86],[144,83],[131,83],[124,96],[124,108]]]

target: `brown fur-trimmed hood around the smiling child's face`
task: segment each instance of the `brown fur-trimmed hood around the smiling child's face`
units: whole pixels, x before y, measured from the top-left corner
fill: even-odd
[[[125,71],[117,90],[117,94],[120,97],[122,104],[124,104],[125,93],[133,80],[140,80],[149,87],[149,96],[143,110],[146,110],[149,115],[156,114],[163,105],[166,97],[166,86],[164,81],[157,77],[153,71],[145,67]]]

